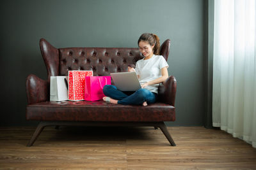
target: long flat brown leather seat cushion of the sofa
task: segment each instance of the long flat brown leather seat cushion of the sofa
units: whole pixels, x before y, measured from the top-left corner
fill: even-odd
[[[28,104],[27,120],[88,122],[175,121],[175,107],[164,103],[148,106],[111,104],[104,101],[45,101]]]

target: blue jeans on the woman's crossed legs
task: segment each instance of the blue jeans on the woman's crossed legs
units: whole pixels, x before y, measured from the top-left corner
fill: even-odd
[[[157,94],[150,92],[147,89],[139,89],[133,92],[131,95],[125,94],[118,90],[114,85],[105,85],[103,88],[105,96],[118,100],[118,104],[136,104],[141,105],[147,101],[147,104],[155,103],[157,100]]]

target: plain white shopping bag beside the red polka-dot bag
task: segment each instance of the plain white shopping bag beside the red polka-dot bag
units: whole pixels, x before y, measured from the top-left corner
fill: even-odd
[[[67,76],[51,76],[50,101],[68,100],[67,78]]]

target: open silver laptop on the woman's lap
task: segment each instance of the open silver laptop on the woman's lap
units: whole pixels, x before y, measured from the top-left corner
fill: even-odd
[[[133,72],[110,73],[110,76],[118,90],[131,92],[141,89],[137,74]]]

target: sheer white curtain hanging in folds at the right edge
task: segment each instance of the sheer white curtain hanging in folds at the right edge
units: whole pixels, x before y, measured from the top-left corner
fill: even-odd
[[[255,0],[214,1],[212,124],[256,147]]]

